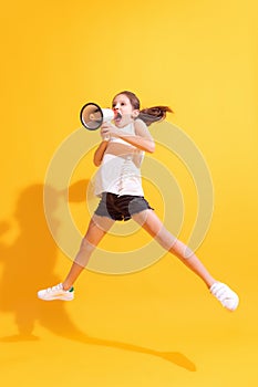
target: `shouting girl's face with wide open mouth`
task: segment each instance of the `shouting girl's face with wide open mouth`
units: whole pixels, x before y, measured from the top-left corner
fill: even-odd
[[[138,115],[138,111],[135,109],[130,98],[125,94],[118,94],[113,100],[112,108],[115,112],[115,126],[124,127],[133,122]]]

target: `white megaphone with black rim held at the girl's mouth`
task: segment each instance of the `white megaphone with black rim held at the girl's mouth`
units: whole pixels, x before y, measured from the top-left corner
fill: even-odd
[[[89,130],[96,130],[103,123],[114,119],[114,112],[111,108],[101,108],[97,104],[89,102],[80,113],[82,125]]]

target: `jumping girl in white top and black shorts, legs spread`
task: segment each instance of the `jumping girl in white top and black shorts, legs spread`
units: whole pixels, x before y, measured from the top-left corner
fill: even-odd
[[[153,153],[155,149],[147,126],[164,119],[166,112],[172,112],[171,108],[156,106],[140,111],[137,96],[127,91],[114,97],[112,107],[115,112],[114,125],[103,123],[102,142],[93,159],[95,166],[101,166],[96,181],[100,203],[68,276],[62,283],[39,291],[39,299],[73,300],[73,284],[86,266],[95,247],[115,221],[132,218],[164,249],[196,273],[224,307],[236,310],[238,295],[225,283],[214,279],[195,253],[165,229],[144,198],[140,168],[144,151]]]

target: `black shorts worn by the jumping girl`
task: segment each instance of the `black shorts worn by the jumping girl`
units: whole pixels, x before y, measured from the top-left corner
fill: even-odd
[[[147,209],[153,210],[143,196],[103,192],[95,215],[114,220],[130,220],[132,215]]]

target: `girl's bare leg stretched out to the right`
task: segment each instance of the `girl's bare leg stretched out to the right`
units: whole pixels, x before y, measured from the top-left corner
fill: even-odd
[[[195,253],[166,230],[153,210],[145,210],[140,213],[135,213],[132,218],[140,223],[144,230],[146,230],[164,249],[179,258],[179,260],[194,273],[196,273],[208,287],[216,282]]]

